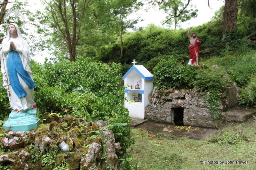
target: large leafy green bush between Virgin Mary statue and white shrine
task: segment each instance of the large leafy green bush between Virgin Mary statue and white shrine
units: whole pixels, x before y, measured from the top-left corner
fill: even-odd
[[[94,63],[90,59],[76,62],[32,63],[36,83],[35,98],[45,111],[70,114],[87,121],[107,120],[124,156],[132,144],[130,117],[124,107],[124,86],[120,86],[121,64]],[[121,125],[119,123],[122,123]]]

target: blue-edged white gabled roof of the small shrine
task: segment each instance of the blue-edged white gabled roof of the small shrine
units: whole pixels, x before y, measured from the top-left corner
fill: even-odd
[[[144,80],[153,80],[153,74],[151,74],[151,72],[149,72],[144,66],[142,65],[133,65],[128,72],[126,72],[123,76],[123,80],[124,78],[126,78],[126,76],[128,76],[128,74],[130,74],[132,72],[132,70],[135,70]]]

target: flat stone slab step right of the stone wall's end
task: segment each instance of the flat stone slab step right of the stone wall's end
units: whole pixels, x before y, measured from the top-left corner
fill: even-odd
[[[255,113],[256,109],[236,106],[222,113],[222,115],[229,122],[245,122]]]

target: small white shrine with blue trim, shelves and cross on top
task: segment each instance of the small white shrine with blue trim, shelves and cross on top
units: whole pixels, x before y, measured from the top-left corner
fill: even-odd
[[[148,94],[153,88],[153,74],[151,74],[144,66],[135,65],[124,74],[124,98],[128,101],[124,102],[124,106],[129,110],[130,117],[144,119],[145,107],[149,104]]]

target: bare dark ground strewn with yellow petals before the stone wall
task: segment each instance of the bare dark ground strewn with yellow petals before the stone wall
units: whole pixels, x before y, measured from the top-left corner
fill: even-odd
[[[217,131],[217,129],[208,129],[208,128],[192,127],[192,126],[176,126],[176,125],[169,125],[169,124],[156,123],[156,122],[150,122],[150,121],[132,128],[146,129],[147,131],[150,131],[152,134],[155,134],[155,135],[158,133],[167,133],[167,134],[172,134],[176,137],[188,137],[194,140],[208,138]]]

